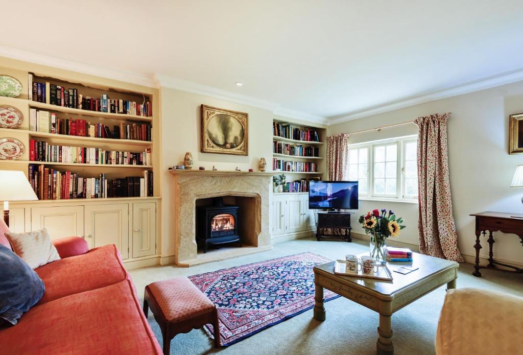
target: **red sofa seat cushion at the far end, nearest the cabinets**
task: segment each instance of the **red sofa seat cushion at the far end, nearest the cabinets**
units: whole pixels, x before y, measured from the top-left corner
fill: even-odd
[[[128,278],[115,245],[94,248],[86,254],[51,262],[35,270],[46,285],[38,304],[73,293],[98,289]]]

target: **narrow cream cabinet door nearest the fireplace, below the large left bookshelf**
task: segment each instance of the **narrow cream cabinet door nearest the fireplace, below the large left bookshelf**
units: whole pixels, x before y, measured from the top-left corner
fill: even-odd
[[[132,257],[156,254],[156,203],[132,204]]]

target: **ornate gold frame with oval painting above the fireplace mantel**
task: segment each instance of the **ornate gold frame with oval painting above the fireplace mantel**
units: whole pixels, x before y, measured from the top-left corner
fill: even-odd
[[[201,152],[249,155],[249,115],[201,105]]]

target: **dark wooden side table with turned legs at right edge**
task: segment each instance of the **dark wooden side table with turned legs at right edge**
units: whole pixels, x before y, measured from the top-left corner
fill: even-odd
[[[523,269],[495,261],[492,250],[492,247],[495,243],[492,233],[497,231],[508,234],[516,234],[521,239],[521,245],[523,245],[523,214],[480,212],[473,213],[471,216],[476,217],[476,244],[474,244],[474,248],[476,249],[476,265],[474,265],[475,270],[472,272],[472,274],[474,276],[481,277],[480,269],[496,269],[505,272],[523,273]],[[482,248],[480,244],[480,235],[481,233],[486,235],[486,231],[488,231],[487,242],[489,247],[488,265],[480,266],[480,249]],[[496,264],[514,270],[500,269],[496,267]]]

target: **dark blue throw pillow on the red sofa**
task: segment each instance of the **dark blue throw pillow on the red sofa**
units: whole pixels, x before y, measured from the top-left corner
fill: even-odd
[[[38,274],[0,244],[0,320],[15,325],[24,312],[40,301],[44,292],[46,287]]]

